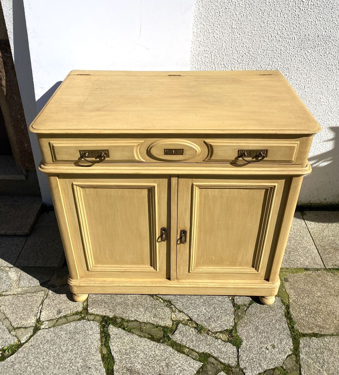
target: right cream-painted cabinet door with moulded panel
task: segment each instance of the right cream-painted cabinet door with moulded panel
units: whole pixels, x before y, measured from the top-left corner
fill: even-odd
[[[177,279],[265,279],[287,182],[179,177]]]

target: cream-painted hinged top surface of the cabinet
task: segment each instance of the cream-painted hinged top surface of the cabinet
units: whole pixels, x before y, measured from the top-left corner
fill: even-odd
[[[30,130],[312,134],[320,126],[278,71],[72,71]]]

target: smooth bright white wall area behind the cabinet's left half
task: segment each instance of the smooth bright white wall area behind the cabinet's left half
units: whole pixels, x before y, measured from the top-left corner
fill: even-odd
[[[72,69],[190,69],[194,0],[23,2],[38,111]]]

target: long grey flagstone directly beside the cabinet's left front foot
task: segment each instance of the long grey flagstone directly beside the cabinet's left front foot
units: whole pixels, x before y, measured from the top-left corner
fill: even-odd
[[[172,326],[170,309],[152,297],[142,294],[90,294],[88,312]]]

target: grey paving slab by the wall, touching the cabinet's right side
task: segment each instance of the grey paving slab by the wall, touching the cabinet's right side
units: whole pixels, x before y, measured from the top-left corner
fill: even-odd
[[[294,214],[282,267],[325,268],[300,212]]]

